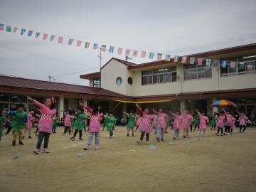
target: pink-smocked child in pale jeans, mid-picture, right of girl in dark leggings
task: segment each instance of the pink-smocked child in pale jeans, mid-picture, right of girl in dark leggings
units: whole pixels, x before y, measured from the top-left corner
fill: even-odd
[[[164,142],[164,131],[166,131],[166,119],[168,116],[166,113],[163,112],[163,109],[159,109],[159,112],[156,112],[153,109],[153,112],[157,114],[157,142]]]

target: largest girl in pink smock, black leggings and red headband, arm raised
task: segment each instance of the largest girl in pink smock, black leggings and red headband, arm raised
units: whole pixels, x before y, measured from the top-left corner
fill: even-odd
[[[40,154],[41,151],[41,144],[44,139],[43,144],[43,152],[49,153],[48,151],[48,143],[50,138],[50,133],[53,129],[53,119],[55,118],[56,110],[55,107],[55,99],[53,97],[46,99],[46,104],[43,105],[42,103],[33,100],[31,97],[28,97],[28,100],[33,102],[37,107],[40,108],[41,111],[41,118],[38,122],[38,142],[36,144],[36,149],[33,151],[35,154]]]

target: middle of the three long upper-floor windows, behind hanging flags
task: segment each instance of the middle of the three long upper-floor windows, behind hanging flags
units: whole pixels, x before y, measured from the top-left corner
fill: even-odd
[[[211,78],[210,66],[206,65],[183,65],[184,80],[196,80]]]

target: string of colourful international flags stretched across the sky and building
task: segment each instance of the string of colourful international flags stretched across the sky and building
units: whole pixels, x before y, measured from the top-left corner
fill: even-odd
[[[0,31],[6,31],[9,33],[17,33],[18,32],[18,27],[12,27],[10,25],[6,25],[6,27],[4,27],[5,25],[3,23],[0,23]],[[20,35],[23,36],[25,33],[27,34],[28,37],[32,37],[34,34],[35,38],[41,38],[43,39],[43,41],[49,40],[49,41],[54,41],[56,39],[57,43],[59,44],[63,44],[64,38],[62,36],[55,36],[55,35],[49,35],[47,33],[41,33],[41,32],[36,32],[36,31],[32,31],[32,30],[27,30],[26,28],[20,28]],[[73,38],[68,38],[68,45],[74,45],[75,46],[82,46],[82,44],[84,44],[84,48],[89,49],[91,46],[91,43],[88,41],[81,41],[81,40],[74,40]],[[76,43],[74,43],[76,42]],[[167,53],[165,55],[163,55],[162,53],[154,53],[154,52],[146,52],[145,50],[139,51],[139,50],[131,50],[129,48],[121,48],[121,47],[117,47],[115,48],[114,46],[109,46],[107,47],[107,45],[101,45],[99,46],[98,43],[93,43],[92,44],[92,49],[93,50],[98,50],[100,49],[103,52],[108,51],[109,53],[116,53],[119,55],[125,54],[127,56],[132,56],[134,58],[140,57],[140,58],[146,58],[146,55],[148,55],[149,59],[154,59],[154,57],[156,57],[156,60],[162,60],[164,58],[164,60],[166,61],[171,61],[171,54]],[[178,63],[181,62],[183,64],[190,64],[190,65],[203,65],[205,64],[206,66],[210,66],[213,65],[215,67],[218,67],[219,65],[221,66],[221,68],[226,68],[227,65],[230,65],[230,68],[236,68],[237,62],[236,61],[231,61],[228,64],[228,60],[218,60],[218,59],[210,59],[210,58],[194,58],[194,57],[187,57],[187,56],[178,56],[178,55],[174,55],[173,58],[174,62]],[[245,63],[243,62],[239,62],[238,63],[238,68],[239,69],[243,69],[245,68]],[[252,70],[253,65],[247,64],[247,70]]]

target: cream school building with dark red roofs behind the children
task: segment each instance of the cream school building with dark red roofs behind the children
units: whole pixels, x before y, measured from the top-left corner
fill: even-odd
[[[61,110],[76,110],[80,100],[87,105],[99,101],[104,112],[120,115],[122,110],[135,110],[136,102],[156,109],[198,109],[212,114],[217,109],[211,109],[210,104],[220,99],[235,102],[238,110],[256,111],[256,43],[187,56],[228,63],[222,68],[221,64],[208,66],[206,62],[181,63],[181,58],[178,62],[171,59],[142,64],[112,58],[100,71],[80,75],[90,80],[90,86],[0,76],[0,107],[14,110],[30,95],[40,102],[48,96],[57,98],[60,117]]]

